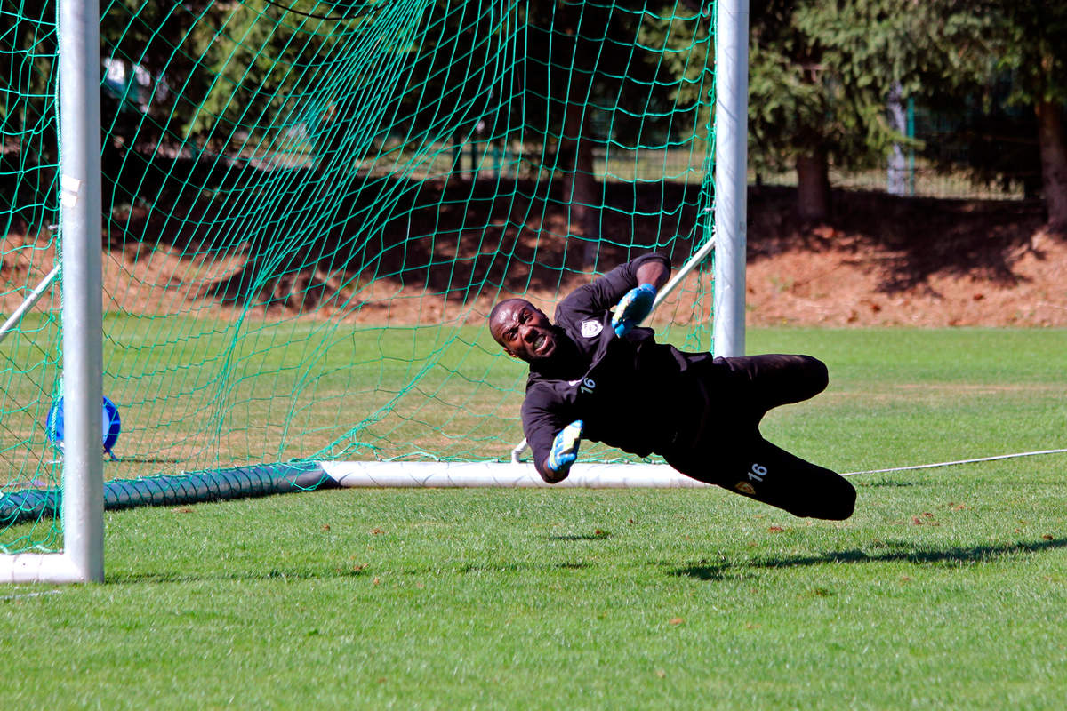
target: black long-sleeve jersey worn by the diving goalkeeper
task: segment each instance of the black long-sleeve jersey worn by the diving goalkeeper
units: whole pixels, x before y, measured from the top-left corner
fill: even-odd
[[[526,441],[542,479],[556,435],[583,420],[583,439],[604,442],[639,456],[664,454],[690,437],[705,417],[706,394],[695,373],[708,353],[683,353],[656,343],[651,328],[635,327],[619,338],[611,308],[637,284],[647,254],[571,292],[556,307],[558,333],[574,343],[566,356],[531,363],[522,417]]]

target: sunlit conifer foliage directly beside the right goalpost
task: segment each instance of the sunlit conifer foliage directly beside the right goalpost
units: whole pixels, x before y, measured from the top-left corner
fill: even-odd
[[[880,161],[892,144],[907,144],[887,122],[888,97],[936,93],[954,76],[953,48],[980,31],[966,19],[940,21],[921,2],[906,11],[889,0],[755,3],[754,162],[780,166],[819,150],[838,165],[862,166]]]

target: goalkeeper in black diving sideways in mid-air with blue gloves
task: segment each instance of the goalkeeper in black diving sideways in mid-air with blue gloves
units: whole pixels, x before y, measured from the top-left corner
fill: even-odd
[[[670,263],[646,254],[575,289],[555,325],[529,302],[493,307],[489,327],[529,363],[522,418],[542,479],[567,478],[582,439],[638,456],[795,516],[848,518],[856,489],[841,475],[771,445],[760,420],[822,392],[826,366],[803,355],[713,358],[656,343],[639,324]]]

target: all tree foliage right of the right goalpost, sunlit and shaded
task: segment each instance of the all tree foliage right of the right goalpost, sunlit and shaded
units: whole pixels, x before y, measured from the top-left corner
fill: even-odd
[[[1003,106],[1067,100],[1065,59],[1056,51],[1067,42],[1067,9],[1056,3],[768,0],[753,3],[751,22],[757,165],[780,167],[815,149],[839,165],[880,160],[890,145],[908,144],[886,120],[894,91],[949,116],[987,115],[985,131],[999,120],[998,135],[1012,132],[998,113]],[[1009,93],[1001,90],[1005,72]],[[974,152],[981,166],[982,147]]]

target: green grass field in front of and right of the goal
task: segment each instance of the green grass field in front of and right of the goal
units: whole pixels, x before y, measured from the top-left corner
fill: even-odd
[[[1067,447],[1067,332],[749,334],[830,366],[842,471]],[[717,489],[334,490],[107,515],[107,584],[0,588],[3,708],[1060,709],[1067,455]]]

